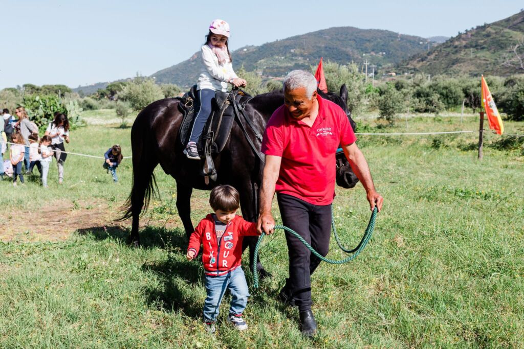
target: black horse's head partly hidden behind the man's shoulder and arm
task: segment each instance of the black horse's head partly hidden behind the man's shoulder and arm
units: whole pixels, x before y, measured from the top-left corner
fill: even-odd
[[[339,105],[350,119],[351,128],[355,131],[356,123],[351,118],[351,110],[347,109],[347,88],[346,84],[340,87],[340,94],[334,92],[323,93],[318,90],[322,98],[331,100]],[[336,152],[336,184],[343,188],[353,188],[358,182],[357,176],[353,173],[350,163],[347,162],[346,155],[342,150]]]

